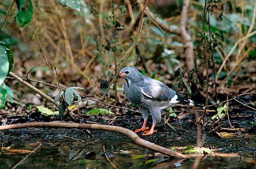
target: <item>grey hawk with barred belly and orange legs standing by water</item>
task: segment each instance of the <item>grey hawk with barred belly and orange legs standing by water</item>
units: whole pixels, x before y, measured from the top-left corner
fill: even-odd
[[[117,78],[125,79],[125,96],[129,101],[137,104],[143,116],[143,126],[140,129],[136,129],[136,133],[144,132],[143,135],[153,135],[153,133],[157,132],[154,127],[161,122],[161,109],[170,107],[173,104],[185,103],[205,109],[203,104],[180,96],[180,93],[170,89],[163,82],[146,77],[133,67],[121,69]],[[151,113],[153,120],[150,130],[146,127],[149,113]]]

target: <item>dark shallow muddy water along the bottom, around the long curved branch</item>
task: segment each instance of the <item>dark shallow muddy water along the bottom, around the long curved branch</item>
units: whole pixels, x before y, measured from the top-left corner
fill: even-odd
[[[197,158],[175,159],[160,155],[149,149],[137,146],[126,136],[115,132],[90,131],[77,129],[21,129],[4,131],[0,136],[3,149],[0,155],[0,168],[9,169],[23,160],[18,169],[189,169]],[[65,137],[66,136],[66,137]],[[70,137],[84,140],[73,140]],[[165,146],[195,145],[195,139],[189,136],[180,137],[174,134],[163,139],[143,137]],[[190,138],[190,139],[189,139]],[[35,146],[42,144],[34,153],[26,157]],[[111,163],[106,159],[103,146]],[[255,168],[255,135],[246,138],[221,139],[207,135],[204,147],[218,149],[216,154],[202,157],[198,169],[253,169]],[[19,151],[15,149],[20,149]],[[14,151],[15,150],[15,151]]]

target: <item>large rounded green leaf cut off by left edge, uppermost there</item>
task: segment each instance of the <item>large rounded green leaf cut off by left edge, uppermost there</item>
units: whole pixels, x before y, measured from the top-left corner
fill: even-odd
[[[6,48],[0,44],[0,84],[6,78],[9,70],[9,61],[6,52]]]

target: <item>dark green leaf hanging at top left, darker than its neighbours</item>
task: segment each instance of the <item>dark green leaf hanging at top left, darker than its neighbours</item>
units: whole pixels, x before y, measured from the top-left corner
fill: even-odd
[[[33,5],[31,0],[16,0],[18,12],[15,20],[19,26],[24,26],[29,23],[33,16]]]

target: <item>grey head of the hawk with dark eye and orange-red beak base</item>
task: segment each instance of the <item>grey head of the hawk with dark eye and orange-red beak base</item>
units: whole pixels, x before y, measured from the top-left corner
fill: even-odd
[[[129,81],[138,82],[143,78],[143,74],[141,74],[135,68],[126,67],[120,70],[118,78],[124,78],[127,85],[129,86]]]

